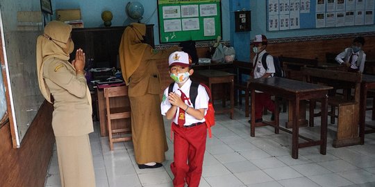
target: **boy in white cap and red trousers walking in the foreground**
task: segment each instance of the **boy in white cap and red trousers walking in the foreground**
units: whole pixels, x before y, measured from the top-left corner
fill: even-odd
[[[176,51],[169,55],[169,73],[174,80],[173,91],[165,89],[161,112],[172,119],[174,132],[174,162],[171,170],[174,174],[173,185],[183,187],[199,186],[201,180],[203,156],[206,150],[207,127],[204,119],[208,109],[208,94],[199,85],[195,108],[190,100],[189,76],[194,73],[190,68],[190,55]]]

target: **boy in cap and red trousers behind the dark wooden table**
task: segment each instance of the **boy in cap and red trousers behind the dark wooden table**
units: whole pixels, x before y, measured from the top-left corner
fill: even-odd
[[[253,70],[250,75],[253,78],[269,78],[275,73],[274,58],[272,55],[267,55],[266,64],[267,69],[263,66],[262,57],[267,52],[265,48],[267,47],[267,37],[265,35],[256,35],[253,40],[253,52],[256,53],[253,58]],[[275,106],[274,102],[271,100],[271,96],[267,93],[256,90],[255,94],[255,119],[256,123],[263,121],[263,108],[266,107],[270,112],[272,112],[271,120],[274,120]],[[251,123],[251,121],[249,121]]]

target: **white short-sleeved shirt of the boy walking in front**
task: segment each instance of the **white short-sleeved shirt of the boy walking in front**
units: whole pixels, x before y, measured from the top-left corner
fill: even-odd
[[[192,84],[192,80],[190,80],[190,78],[189,78],[189,80],[187,80],[183,84],[183,86],[181,88],[179,88],[179,89],[181,89],[181,91],[183,91],[183,93],[186,95],[186,97],[189,98],[189,100],[185,100],[186,105],[189,105],[189,103],[190,103],[189,107],[193,107],[192,101],[190,100],[190,85],[191,84]],[[160,104],[161,114],[163,116],[165,116],[165,113],[167,113],[168,109],[172,107],[171,103],[169,103],[169,100],[168,100],[168,91],[169,91],[169,87],[167,87],[167,89],[164,90],[163,100],[162,100],[162,103]],[[174,93],[178,94],[178,96],[181,96],[181,91],[178,90],[178,84],[176,82],[174,82],[174,86],[173,86],[172,91],[174,91]],[[199,85],[197,98],[195,99],[195,109],[205,109],[204,114],[206,115],[206,112],[207,112],[207,109],[208,109],[208,100],[210,100],[210,98],[208,97],[206,89],[203,86]],[[176,123],[176,124],[178,122],[179,110],[180,110],[180,108],[178,107],[177,111],[176,111],[176,116],[173,120],[173,122]],[[199,122],[205,122],[205,121],[206,120],[204,118],[202,120],[198,120],[197,118],[194,118],[193,116],[190,116],[190,114],[185,113],[185,124],[184,124],[184,126],[191,125],[192,123],[199,123]]]

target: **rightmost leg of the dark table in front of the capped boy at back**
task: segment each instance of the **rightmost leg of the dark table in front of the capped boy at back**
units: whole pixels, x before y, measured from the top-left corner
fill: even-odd
[[[322,116],[320,116],[320,154],[327,151],[328,96],[322,98]]]

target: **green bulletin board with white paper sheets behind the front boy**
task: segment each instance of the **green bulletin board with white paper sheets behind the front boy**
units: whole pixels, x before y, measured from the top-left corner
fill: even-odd
[[[222,35],[220,0],[158,0],[160,43],[213,40]]]

